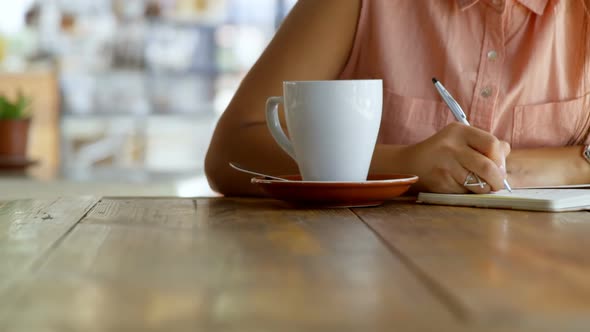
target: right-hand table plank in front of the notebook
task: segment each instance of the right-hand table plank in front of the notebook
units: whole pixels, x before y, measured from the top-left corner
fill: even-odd
[[[492,326],[590,324],[590,214],[414,204],[354,212],[407,265]]]

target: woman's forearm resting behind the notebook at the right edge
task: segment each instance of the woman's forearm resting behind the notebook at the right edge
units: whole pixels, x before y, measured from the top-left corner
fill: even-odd
[[[513,187],[590,183],[582,146],[513,150],[506,167]]]

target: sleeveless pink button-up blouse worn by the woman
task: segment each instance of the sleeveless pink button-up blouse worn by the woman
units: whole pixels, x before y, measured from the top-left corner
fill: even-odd
[[[341,78],[383,79],[380,143],[455,121],[432,77],[513,148],[590,143],[584,15],[582,0],[363,0]]]

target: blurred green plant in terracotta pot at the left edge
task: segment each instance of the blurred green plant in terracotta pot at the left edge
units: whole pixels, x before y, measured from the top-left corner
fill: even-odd
[[[25,159],[31,98],[21,91],[11,99],[0,95],[0,159]]]

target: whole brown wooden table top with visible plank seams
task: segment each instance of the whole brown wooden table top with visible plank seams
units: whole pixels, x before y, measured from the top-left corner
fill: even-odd
[[[0,331],[575,331],[590,214],[0,202]]]

